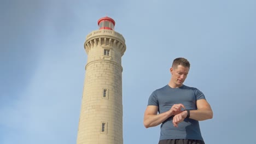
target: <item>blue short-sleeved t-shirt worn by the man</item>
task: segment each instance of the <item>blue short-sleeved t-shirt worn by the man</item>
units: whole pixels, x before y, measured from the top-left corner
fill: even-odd
[[[199,99],[205,99],[205,95],[197,88],[185,85],[179,88],[171,88],[169,85],[166,85],[160,89],[156,89],[150,95],[148,105],[158,106],[159,113],[170,110],[174,104],[183,104],[186,109],[197,110],[196,100]],[[172,119],[173,116],[161,124],[160,140],[203,140],[198,121],[185,118],[183,122],[178,124],[178,128],[176,128],[173,127]]]

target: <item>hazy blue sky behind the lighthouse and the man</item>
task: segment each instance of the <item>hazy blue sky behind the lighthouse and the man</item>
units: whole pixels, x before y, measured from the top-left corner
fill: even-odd
[[[253,143],[256,120],[256,1],[0,2],[0,143],[75,143],[86,35],[112,17],[123,34],[124,144],[158,143],[146,129],[149,95],[170,80],[176,57],[191,63],[213,119],[207,144]]]

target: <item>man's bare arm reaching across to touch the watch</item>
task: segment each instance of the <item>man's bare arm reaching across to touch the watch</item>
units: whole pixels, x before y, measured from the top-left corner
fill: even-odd
[[[158,106],[149,105],[144,113],[144,126],[146,128],[155,127],[156,125],[161,124],[167,118],[171,117],[172,115],[177,115],[181,113],[181,108],[185,109],[183,104],[175,104],[172,108],[166,112],[160,113],[158,115]]]

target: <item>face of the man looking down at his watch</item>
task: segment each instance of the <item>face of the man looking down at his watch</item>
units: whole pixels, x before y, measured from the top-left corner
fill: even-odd
[[[180,87],[188,76],[189,68],[178,65],[176,68],[171,68],[170,71],[172,74],[171,81],[174,83],[174,85]]]

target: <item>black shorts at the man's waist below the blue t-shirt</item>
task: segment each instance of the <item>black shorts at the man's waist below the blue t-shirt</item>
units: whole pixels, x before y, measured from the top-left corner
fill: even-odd
[[[205,144],[205,142],[201,140],[173,139],[160,140],[158,144]]]

